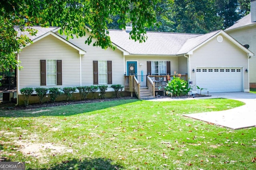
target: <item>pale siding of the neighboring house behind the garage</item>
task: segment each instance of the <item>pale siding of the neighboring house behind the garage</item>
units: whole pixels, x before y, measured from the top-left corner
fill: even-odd
[[[227,33],[242,45],[250,45],[248,49],[254,53],[254,56],[249,58],[250,83],[256,83],[256,25],[227,31]]]

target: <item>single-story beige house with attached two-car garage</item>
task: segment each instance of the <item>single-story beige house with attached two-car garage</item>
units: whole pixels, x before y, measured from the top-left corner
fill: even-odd
[[[30,36],[34,43],[17,54],[23,66],[17,73],[18,95],[25,87],[121,84],[143,98],[140,86],[154,84],[154,90],[162,91],[166,75],[174,72],[192,81],[193,93],[196,85],[209,93],[249,92],[246,69],[253,53],[222,30],[203,35],[148,32],[145,43],[130,40],[126,30],[109,30],[116,49],[105,50],[84,44],[90,34],[66,40],[59,28],[34,28],[38,29],[37,36]],[[129,75],[135,75],[140,86]]]

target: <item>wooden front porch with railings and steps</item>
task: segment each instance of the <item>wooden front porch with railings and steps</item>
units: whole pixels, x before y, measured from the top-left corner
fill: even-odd
[[[173,75],[170,75],[172,80]],[[180,75],[181,79],[188,81],[188,75]],[[167,75],[129,75],[124,76],[124,90],[135,92],[138,99],[155,98],[155,92],[161,91],[163,94],[164,87],[168,80]]]

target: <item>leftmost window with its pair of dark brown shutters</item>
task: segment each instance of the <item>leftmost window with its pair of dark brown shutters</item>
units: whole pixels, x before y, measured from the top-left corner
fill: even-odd
[[[40,60],[40,85],[62,85],[62,60]]]

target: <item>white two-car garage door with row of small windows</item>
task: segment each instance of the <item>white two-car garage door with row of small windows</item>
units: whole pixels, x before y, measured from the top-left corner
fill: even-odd
[[[207,89],[202,93],[239,92],[243,87],[242,73],[241,67],[197,68],[196,85]]]

